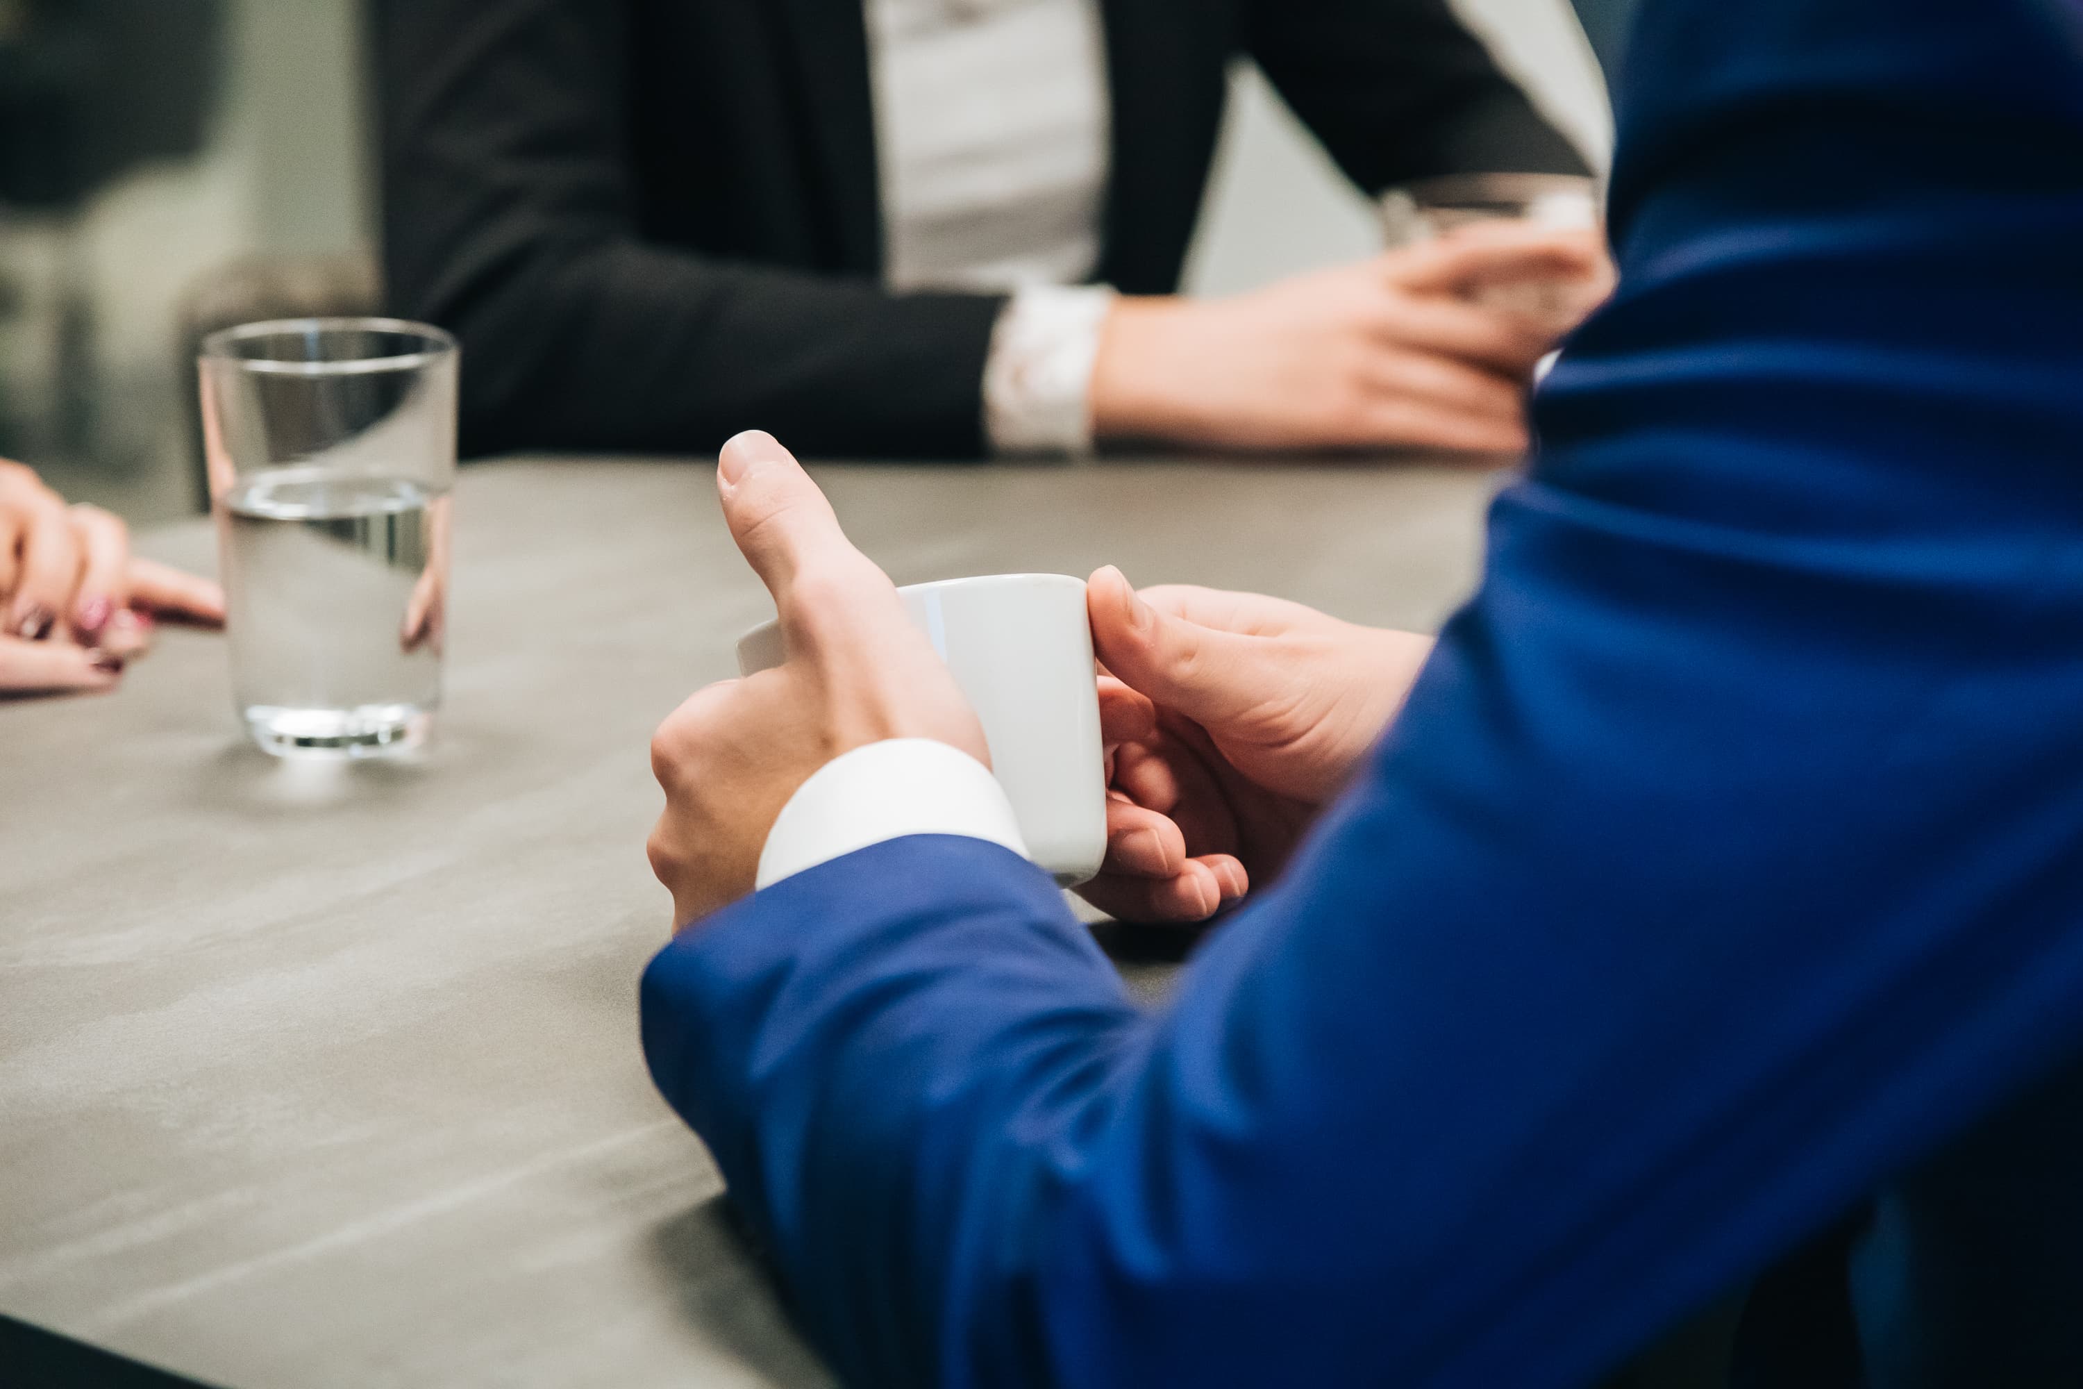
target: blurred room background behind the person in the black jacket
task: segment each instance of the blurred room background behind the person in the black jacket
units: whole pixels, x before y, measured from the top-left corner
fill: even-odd
[[[0,0],[0,456],[131,523],[200,510],[194,339],[283,298],[377,302],[362,8]],[[1458,8],[1604,169],[1606,90],[1566,0]],[[1231,83],[1187,292],[1377,248],[1264,81]]]

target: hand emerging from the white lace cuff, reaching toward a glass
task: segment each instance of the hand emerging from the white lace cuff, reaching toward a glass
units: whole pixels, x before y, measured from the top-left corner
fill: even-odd
[[[1094,433],[1523,452],[1533,364],[1575,323],[1500,300],[1514,283],[1581,285],[1589,312],[1612,273],[1593,231],[1504,225],[1227,300],[1125,298],[1091,371]]]

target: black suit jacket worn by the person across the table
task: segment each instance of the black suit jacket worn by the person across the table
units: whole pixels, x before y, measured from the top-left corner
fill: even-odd
[[[1581,162],[1446,0],[1102,0],[1100,279],[1179,279],[1250,54],[1369,192]],[[394,308],[462,339],[462,448],[975,456],[989,294],[881,287],[860,0],[381,0]]]

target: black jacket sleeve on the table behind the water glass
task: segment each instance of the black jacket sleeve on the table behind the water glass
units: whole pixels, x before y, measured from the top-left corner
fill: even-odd
[[[975,456],[994,296],[646,242],[614,0],[383,0],[383,250],[462,339],[462,452]],[[721,194],[719,194],[721,196]]]

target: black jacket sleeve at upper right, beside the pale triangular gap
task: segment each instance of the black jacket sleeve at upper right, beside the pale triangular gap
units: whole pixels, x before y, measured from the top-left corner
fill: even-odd
[[[1585,173],[1448,0],[1250,0],[1246,44],[1369,194],[1441,173]]]

